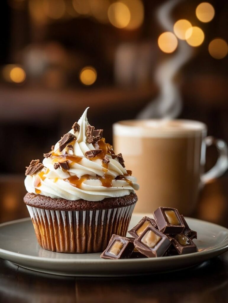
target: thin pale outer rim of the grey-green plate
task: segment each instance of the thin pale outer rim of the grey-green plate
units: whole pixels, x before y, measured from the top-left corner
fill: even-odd
[[[148,215],[148,213],[135,213],[133,215]],[[151,215],[151,214],[150,214]],[[200,221],[200,222],[204,222],[204,223],[207,223],[209,225],[214,225],[216,226],[217,228],[221,228],[222,230],[226,231],[227,234],[228,234],[228,228],[224,227],[224,226],[221,226],[221,225],[218,225],[218,224],[215,224],[215,223],[212,223],[212,222],[208,222],[208,221],[204,221],[204,220],[200,220],[200,219],[197,219],[197,218],[191,218],[191,217],[186,217],[186,219],[190,219],[190,220],[194,220],[194,221]],[[21,218],[21,219],[17,219],[17,220],[12,220],[12,221],[7,221],[7,222],[3,222],[0,224],[0,228],[3,227],[3,226],[7,226],[7,225],[12,225],[12,224],[16,224],[16,223],[21,223],[21,222],[25,222],[25,221],[29,221],[31,220],[30,217],[27,217],[27,218]],[[223,242],[219,243],[218,246],[213,246],[212,248],[209,248],[207,250],[203,250],[203,251],[197,251],[197,252],[194,252],[194,253],[191,253],[191,254],[186,254],[186,255],[176,255],[176,256],[169,256],[167,259],[169,261],[173,260],[181,260],[181,259],[188,259],[188,258],[193,258],[194,256],[203,256],[203,255],[210,255],[210,254],[213,254],[213,252],[217,252],[218,254],[216,255],[220,255],[226,251],[228,251],[228,238],[227,240],[225,241],[224,244],[222,244]],[[3,249],[0,247],[0,253],[4,254],[4,255],[10,255],[10,256],[15,256],[17,258],[20,258],[20,259],[29,259],[29,260],[36,260],[36,261],[41,261],[41,262],[44,262],[44,263],[78,263],[78,264],[81,264],[81,263],[87,263],[87,264],[101,264],[101,263],[113,263],[115,262],[116,260],[109,260],[109,259],[102,259],[102,258],[89,258],[89,259],[64,259],[64,258],[48,258],[48,257],[35,257],[35,256],[31,256],[31,255],[25,255],[25,254],[21,254],[21,253],[17,253],[17,252],[13,252],[13,251],[9,251],[9,250],[6,250],[6,249]],[[61,254],[61,253],[59,253]],[[66,255],[66,254],[65,254]],[[79,255],[79,254],[71,254],[71,255]],[[80,255],[84,255],[84,254],[80,254]],[[1,256],[0,256],[1,258]],[[120,259],[118,260],[118,262],[121,262],[121,263],[138,263],[138,262],[159,262],[161,260],[165,261],[166,258],[164,257],[157,257],[157,258],[140,258],[140,259]],[[166,259],[166,260],[167,260]]]

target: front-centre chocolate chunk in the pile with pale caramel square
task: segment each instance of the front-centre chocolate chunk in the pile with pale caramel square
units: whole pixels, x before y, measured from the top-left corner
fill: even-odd
[[[143,255],[147,257],[161,257],[171,245],[167,235],[162,234],[153,226],[147,228],[134,240],[134,245]]]

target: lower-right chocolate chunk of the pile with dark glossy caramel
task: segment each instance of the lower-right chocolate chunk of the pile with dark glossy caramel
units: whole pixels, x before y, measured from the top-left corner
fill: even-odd
[[[195,243],[184,233],[169,236],[179,255],[197,252]]]

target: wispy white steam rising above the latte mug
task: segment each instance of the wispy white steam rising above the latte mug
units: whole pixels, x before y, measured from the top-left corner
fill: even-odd
[[[165,2],[157,10],[157,18],[165,31],[173,32],[171,12],[183,0]],[[155,72],[155,82],[160,88],[159,96],[151,101],[137,116],[138,119],[176,118],[182,109],[178,86],[173,80],[177,71],[191,58],[192,48],[185,41],[178,41],[178,48],[172,58],[161,63]]]

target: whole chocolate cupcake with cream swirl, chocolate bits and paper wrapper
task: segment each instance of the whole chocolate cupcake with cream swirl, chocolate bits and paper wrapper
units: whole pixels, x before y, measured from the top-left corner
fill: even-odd
[[[125,236],[139,188],[121,154],[115,155],[87,120],[27,167],[24,197],[40,246],[63,253],[103,251],[112,234]]]

